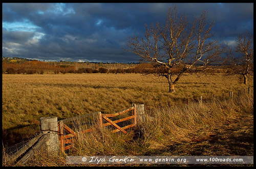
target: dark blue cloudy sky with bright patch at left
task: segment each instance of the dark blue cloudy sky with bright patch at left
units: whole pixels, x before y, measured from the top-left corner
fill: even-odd
[[[253,3],[3,3],[3,57],[137,63],[124,50],[127,38],[163,23],[174,5],[190,19],[206,11],[212,33],[230,47],[238,35],[253,33]]]

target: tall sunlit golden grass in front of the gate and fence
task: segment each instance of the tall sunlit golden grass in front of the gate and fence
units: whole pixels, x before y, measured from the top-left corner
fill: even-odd
[[[112,133],[99,128],[79,134],[72,155],[152,155],[159,145],[186,139],[189,133],[207,131],[228,122],[228,119],[253,113],[253,95],[203,102],[191,102],[177,107],[155,107],[150,113],[153,121],[138,123],[129,133]],[[149,114],[149,112],[146,112]],[[78,125],[79,126],[79,125]],[[80,126],[81,127],[81,126]],[[157,145],[155,145],[157,144]]]

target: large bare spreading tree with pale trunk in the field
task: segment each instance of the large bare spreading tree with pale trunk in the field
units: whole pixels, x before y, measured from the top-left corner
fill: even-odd
[[[224,44],[211,33],[214,23],[206,24],[206,12],[189,21],[178,15],[176,7],[169,8],[165,24],[158,22],[148,28],[144,37],[133,35],[127,38],[128,49],[141,58],[141,63],[151,63],[152,74],[166,77],[169,92],[175,93],[175,85],[185,72],[194,73],[208,69],[220,59]]]

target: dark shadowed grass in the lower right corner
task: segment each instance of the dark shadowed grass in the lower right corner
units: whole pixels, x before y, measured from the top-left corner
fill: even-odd
[[[154,154],[187,156],[253,156],[253,116],[244,115],[210,131],[198,130],[186,142],[174,142]]]

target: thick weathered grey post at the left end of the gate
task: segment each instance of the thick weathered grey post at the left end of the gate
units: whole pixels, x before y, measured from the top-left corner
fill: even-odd
[[[58,142],[58,118],[57,117],[46,117],[40,118],[41,131],[42,134],[50,133],[49,139],[45,143],[46,151],[48,152],[58,152],[59,142]]]

